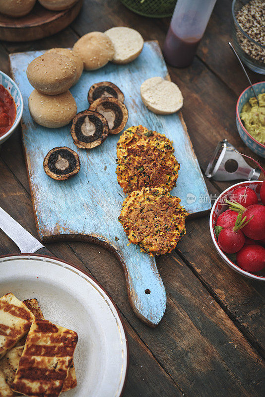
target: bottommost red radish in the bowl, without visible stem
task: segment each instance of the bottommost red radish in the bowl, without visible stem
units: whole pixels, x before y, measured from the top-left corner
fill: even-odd
[[[265,248],[260,245],[244,246],[237,254],[239,267],[246,271],[259,271],[265,268]]]

